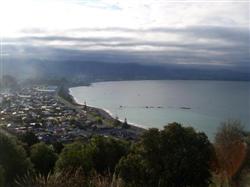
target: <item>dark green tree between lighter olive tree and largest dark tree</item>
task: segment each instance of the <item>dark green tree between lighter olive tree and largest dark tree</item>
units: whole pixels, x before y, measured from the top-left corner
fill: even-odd
[[[122,156],[127,155],[129,144],[121,140],[96,136],[91,139],[93,164],[98,173],[114,172]]]

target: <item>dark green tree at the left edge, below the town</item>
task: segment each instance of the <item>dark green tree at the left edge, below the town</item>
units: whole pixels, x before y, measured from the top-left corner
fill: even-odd
[[[24,148],[18,141],[0,132],[0,165],[5,173],[6,186],[13,183],[17,176],[25,175],[32,169]]]

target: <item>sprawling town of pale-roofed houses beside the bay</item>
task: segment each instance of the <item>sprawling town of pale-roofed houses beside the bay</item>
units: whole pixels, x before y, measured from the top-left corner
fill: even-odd
[[[71,142],[92,135],[136,139],[138,130],[113,126],[98,110],[59,97],[56,87],[28,87],[1,94],[0,123],[11,133],[34,132],[41,141]],[[107,123],[106,121],[109,121]]]

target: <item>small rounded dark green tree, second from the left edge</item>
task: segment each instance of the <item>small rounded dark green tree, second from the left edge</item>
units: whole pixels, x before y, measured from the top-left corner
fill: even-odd
[[[36,172],[47,176],[49,172],[53,172],[57,154],[45,143],[38,143],[31,147],[30,159]]]

